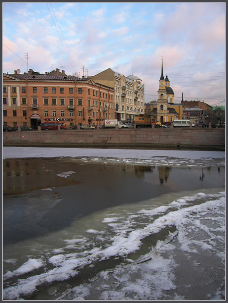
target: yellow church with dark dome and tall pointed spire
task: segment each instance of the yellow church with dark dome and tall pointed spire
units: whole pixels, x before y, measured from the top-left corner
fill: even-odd
[[[166,75],[166,78],[163,76],[163,59],[161,60],[158,99],[145,105],[145,114],[152,115],[157,122],[172,122],[183,118],[183,104],[174,103],[174,92],[170,87],[168,76]]]

